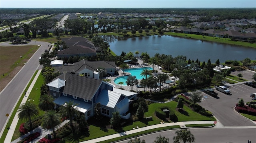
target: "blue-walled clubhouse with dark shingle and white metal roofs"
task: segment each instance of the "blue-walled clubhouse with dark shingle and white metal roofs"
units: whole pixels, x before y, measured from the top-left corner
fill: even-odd
[[[75,108],[86,119],[94,116],[94,106],[97,103],[101,105],[102,115],[111,118],[113,112],[119,112],[121,118],[128,119],[129,101],[137,95],[135,92],[114,90],[112,84],[103,80],[68,73],[56,77],[46,85],[55,99],[56,108],[73,101],[78,104]]]

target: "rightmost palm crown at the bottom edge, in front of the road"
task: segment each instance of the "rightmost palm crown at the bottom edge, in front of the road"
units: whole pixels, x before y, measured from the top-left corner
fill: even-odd
[[[180,141],[183,141],[183,143],[192,143],[195,141],[194,135],[187,129],[180,129],[175,133],[177,136],[173,137],[174,143],[180,143]]]

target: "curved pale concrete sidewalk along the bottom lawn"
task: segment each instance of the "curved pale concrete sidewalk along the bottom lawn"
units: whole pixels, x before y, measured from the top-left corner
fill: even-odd
[[[149,130],[149,129],[155,129],[155,128],[159,128],[159,127],[180,125],[180,128],[186,128],[186,125],[190,125],[190,124],[216,124],[216,123],[217,123],[217,121],[181,121],[181,122],[176,122],[176,123],[159,123],[159,124],[156,124],[156,125],[150,125],[150,126],[141,127],[141,128],[140,127],[135,127],[135,129],[132,129],[130,131],[124,131],[122,133],[116,133],[116,134],[108,135],[108,136],[105,136],[105,137],[99,137],[97,139],[91,139],[91,140],[83,141],[83,142],[80,142],[80,143],[97,143],[97,142],[100,142],[100,141],[106,141],[108,139],[113,139],[113,138],[116,138],[116,137],[122,137],[122,136],[125,136],[125,135],[130,135],[130,134],[133,134],[133,133],[138,133],[138,132],[141,132],[141,131],[146,131],[146,130]]]

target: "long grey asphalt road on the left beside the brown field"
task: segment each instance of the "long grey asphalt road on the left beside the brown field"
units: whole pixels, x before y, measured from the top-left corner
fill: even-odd
[[[8,44],[10,42],[1,43],[1,46],[13,46]],[[1,135],[3,127],[8,123],[8,118],[5,116],[6,113],[11,114],[13,108],[16,106],[16,102],[24,92],[28,82],[33,76],[34,72],[39,67],[38,57],[44,53],[45,49],[48,49],[50,43],[36,41],[37,45],[41,47],[34,53],[30,60],[22,67],[22,69],[14,76],[9,84],[0,93],[0,129]],[[35,45],[35,41],[31,41],[27,45]],[[18,45],[17,45],[18,46]],[[42,68],[42,67],[40,67]]]

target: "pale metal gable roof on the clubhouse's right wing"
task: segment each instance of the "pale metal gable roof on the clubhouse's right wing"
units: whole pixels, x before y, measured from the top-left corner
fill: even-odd
[[[101,105],[114,108],[121,96],[124,96],[124,95],[118,92],[110,91],[110,90],[102,90],[100,96],[96,100],[96,103],[100,102]]]

